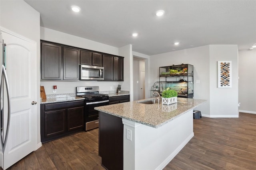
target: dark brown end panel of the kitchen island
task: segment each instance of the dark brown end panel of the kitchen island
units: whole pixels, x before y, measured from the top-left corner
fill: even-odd
[[[102,166],[108,170],[123,169],[122,118],[100,111],[99,114],[99,156]]]

